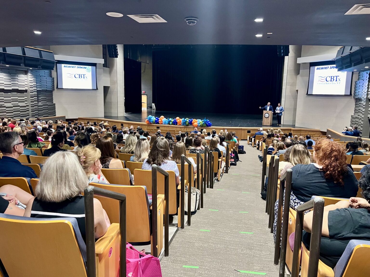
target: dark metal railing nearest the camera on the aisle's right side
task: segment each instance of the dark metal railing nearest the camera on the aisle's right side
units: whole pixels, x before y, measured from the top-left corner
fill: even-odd
[[[310,241],[310,257],[307,277],[316,277],[319,267],[320,241],[322,232],[322,219],[324,214],[324,199],[316,197],[297,207],[296,229],[294,236],[292,277],[298,277],[302,245],[302,231],[304,213],[313,208],[312,232]]]

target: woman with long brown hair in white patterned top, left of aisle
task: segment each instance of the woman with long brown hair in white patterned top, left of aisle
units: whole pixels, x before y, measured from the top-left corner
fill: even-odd
[[[199,138],[200,139],[200,138]],[[156,164],[166,171],[175,172],[176,185],[180,184],[179,169],[175,161],[169,159],[168,140],[158,139],[154,142],[149,152],[148,158],[144,160],[141,169],[151,170],[152,165]]]

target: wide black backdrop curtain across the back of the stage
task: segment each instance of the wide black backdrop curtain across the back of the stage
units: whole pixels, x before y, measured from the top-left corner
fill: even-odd
[[[157,110],[260,114],[259,106],[280,102],[284,57],[277,57],[276,45],[162,49],[153,51]]]

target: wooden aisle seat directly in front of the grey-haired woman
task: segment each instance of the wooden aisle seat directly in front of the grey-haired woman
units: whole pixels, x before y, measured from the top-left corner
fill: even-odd
[[[163,247],[163,216],[164,216],[164,195],[157,195],[157,222],[158,226],[150,226],[149,208],[151,209],[151,199],[148,201],[147,190],[144,186],[125,186],[114,184],[90,183],[94,187],[108,189],[126,195],[126,224],[129,226],[126,230],[127,242],[151,242],[151,230],[157,228],[157,247],[158,255]],[[115,199],[94,196],[99,199],[110,221],[119,223],[120,208],[119,202]],[[153,254],[153,246],[151,247]]]

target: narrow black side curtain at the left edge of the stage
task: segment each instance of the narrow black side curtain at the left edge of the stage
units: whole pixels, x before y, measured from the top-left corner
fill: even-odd
[[[125,112],[141,113],[141,62],[124,58]]]

